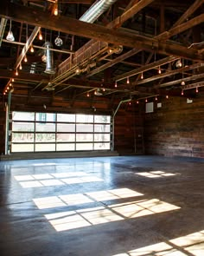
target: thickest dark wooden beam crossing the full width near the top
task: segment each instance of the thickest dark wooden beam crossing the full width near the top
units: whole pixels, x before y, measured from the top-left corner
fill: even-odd
[[[14,3],[2,1],[0,16],[12,18],[19,22],[24,22],[39,27],[47,28],[48,30],[61,31],[78,36],[85,36],[102,42],[113,44],[121,44],[131,48],[141,48],[152,50],[152,48],[164,55],[182,56],[187,59],[196,61],[204,60],[202,55],[199,55],[195,49],[187,49],[181,45],[173,43],[158,43],[156,39],[151,39],[145,36],[133,35],[129,32],[111,30],[100,25],[92,23],[84,23],[79,20],[65,16],[51,16],[47,12],[35,10],[27,6],[19,6]]]

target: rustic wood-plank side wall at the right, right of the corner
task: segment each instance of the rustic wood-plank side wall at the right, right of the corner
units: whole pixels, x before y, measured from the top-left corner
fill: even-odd
[[[144,115],[146,154],[204,157],[204,101],[184,97],[163,99],[162,108]]]

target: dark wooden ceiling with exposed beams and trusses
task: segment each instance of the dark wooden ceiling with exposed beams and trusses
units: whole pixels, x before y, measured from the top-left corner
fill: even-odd
[[[51,0],[1,1],[3,98],[12,88],[12,95],[60,96],[72,102],[137,101],[181,96],[182,90],[193,96],[196,87],[203,87],[204,0],[118,0],[94,23],[80,21],[93,3],[58,0],[59,15],[54,16]],[[10,20],[15,42],[6,40]],[[57,36],[60,47],[54,43]],[[46,41],[53,44],[51,75],[41,60]],[[29,52],[32,45],[34,53]],[[28,62],[23,62],[25,55]]]

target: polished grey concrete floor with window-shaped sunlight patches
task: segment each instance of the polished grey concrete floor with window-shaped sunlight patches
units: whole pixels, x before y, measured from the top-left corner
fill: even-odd
[[[0,255],[203,256],[204,161],[2,161]]]

